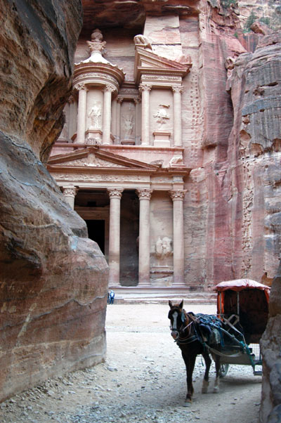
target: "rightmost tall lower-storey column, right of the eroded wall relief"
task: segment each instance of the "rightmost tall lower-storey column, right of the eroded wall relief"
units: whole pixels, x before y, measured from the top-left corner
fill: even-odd
[[[186,190],[171,190],[174,229],[174,284],[184,284],[183,198]]]

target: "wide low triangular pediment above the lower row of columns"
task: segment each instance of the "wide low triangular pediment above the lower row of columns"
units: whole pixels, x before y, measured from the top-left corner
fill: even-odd
[[[157,169],[154,164],[131,160],[127,157],[102,150],[98,146],[91,146],[74,152],[60,154],[48,160],[48,169],[55,171],[58,168],[70,169]]]

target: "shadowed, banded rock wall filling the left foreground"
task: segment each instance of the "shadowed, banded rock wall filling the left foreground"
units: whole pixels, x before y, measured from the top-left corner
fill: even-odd
[[[105,357],[107,264],[42,162],[63,125],[81,4],[0,0],[0,400]]]

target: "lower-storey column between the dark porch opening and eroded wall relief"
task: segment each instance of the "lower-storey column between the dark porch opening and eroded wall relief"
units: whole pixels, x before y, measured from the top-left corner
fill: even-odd
[[[138,286],[150,285],[150,197],[152,190],[137,190],[140,199],[138,236]]]

